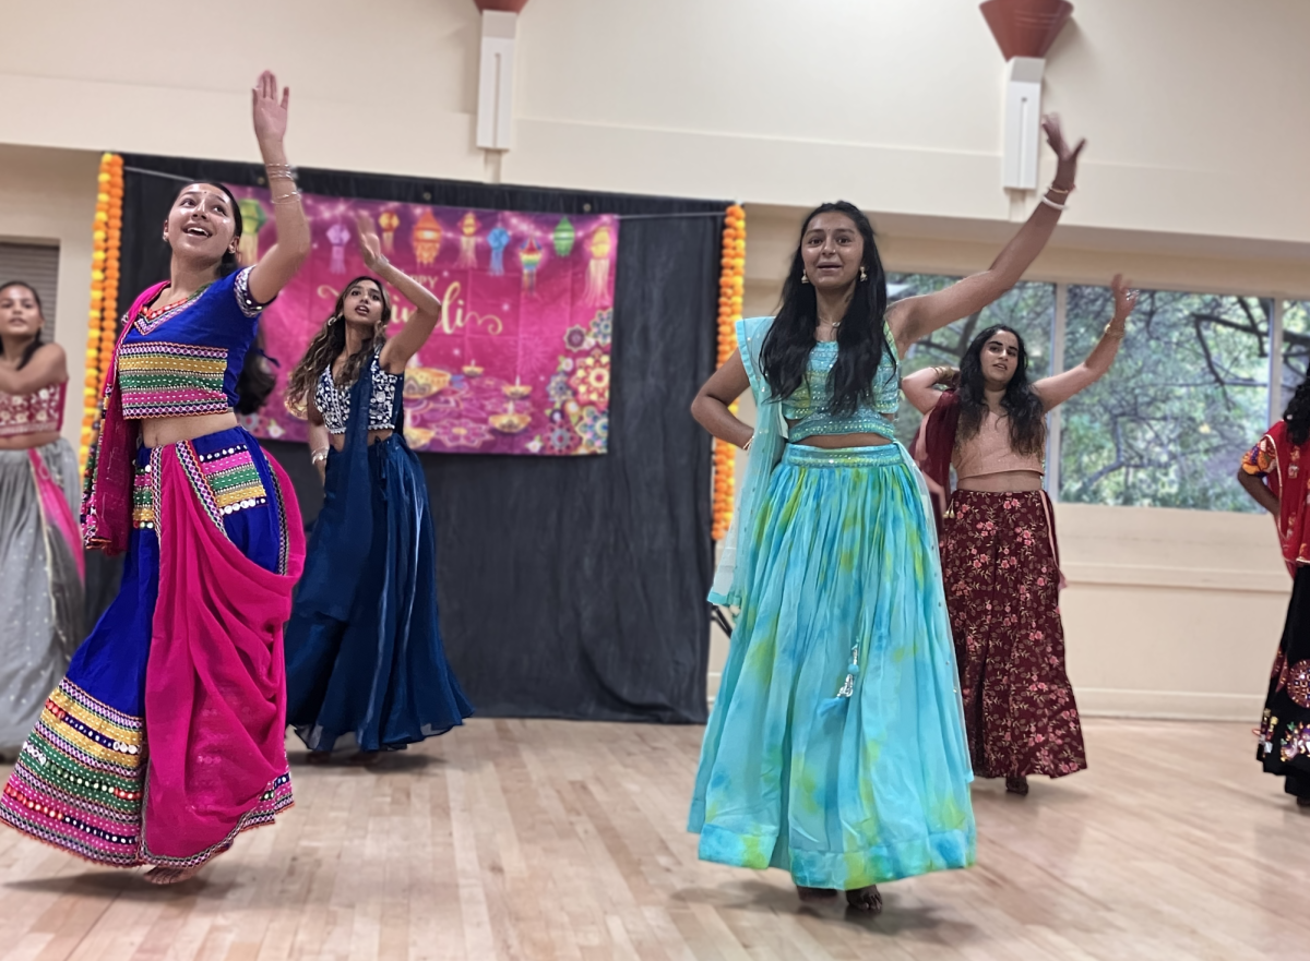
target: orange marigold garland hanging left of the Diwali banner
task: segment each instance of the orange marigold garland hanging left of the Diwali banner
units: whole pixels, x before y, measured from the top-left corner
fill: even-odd
[[[118,268],[123,240],[123,158],[106,153],[100,158],[96,186],[96,220],[92,225],[90,313],[86,323],[86,377],[83,381],[83,429],[77,458],[86,470],[96,440],[100,398],[114,342],[118,338]]]

